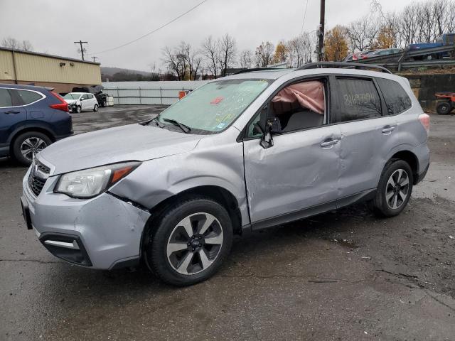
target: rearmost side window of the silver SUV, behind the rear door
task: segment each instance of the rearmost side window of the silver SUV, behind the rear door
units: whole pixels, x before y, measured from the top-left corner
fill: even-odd
[[[387,114],[396,115],[410,109],[412,106],[411,99],[398,82],[384,78],[377,78],[376,80],[387,104]]]

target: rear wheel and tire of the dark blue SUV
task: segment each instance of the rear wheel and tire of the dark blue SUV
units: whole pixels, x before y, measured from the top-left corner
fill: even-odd
[[[38,131],[27,131],[14,139],[13,156],[24,166],[30,166],[33,160],[33,153],[42,151],[52,144],[49,137]]]

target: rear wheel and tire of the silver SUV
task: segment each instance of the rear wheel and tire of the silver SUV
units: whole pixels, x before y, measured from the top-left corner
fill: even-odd
[[[370,207],[378,217],[394,217],[405,209],[412,193],[410,165],[395,159],[387,163],[379,180],[375,198]]]

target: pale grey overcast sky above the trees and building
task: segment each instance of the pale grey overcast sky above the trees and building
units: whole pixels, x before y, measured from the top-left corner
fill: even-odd
[[[202,0],[0,0],[0,40],[28,39],[37,52],[80,58],[75,40],[104,66],[150,70],[162,66],[161,49],[185,40],[199,46],[208,35],[229,33],[238,50],[255,50],[262,40],[276,44],[299,35],[306,0],[208,0],[186,16],[124,48],[114,48],[154,30]],[[415,0],[380,0],[384,11]],[[304,31],[319,23],[319,0],[308,0]],[[326,25],[347,24],[370,13],[371,0],[326,0]]]

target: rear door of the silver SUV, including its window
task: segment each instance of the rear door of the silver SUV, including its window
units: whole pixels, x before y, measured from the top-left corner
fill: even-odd
[[[341,130],[339,203],[377,187],[387,140],[397,123],[387,116],[385,104],[372,77],[336,77],[336,103],[331,123]]]

